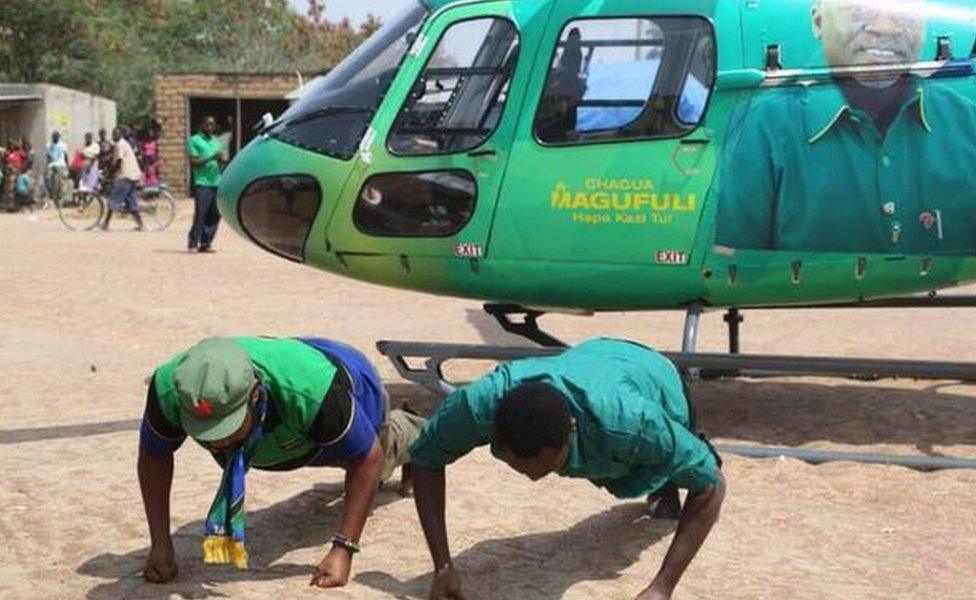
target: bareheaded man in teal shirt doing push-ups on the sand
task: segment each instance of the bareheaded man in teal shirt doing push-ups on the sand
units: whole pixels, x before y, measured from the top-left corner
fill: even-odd
[[[583,478],[618,498],[669,484],[689,491],[671,549],[640,600],[671,597],[725,495],[718,458],[692,431],[681,378],[660,354],[596,339],[500,366],[451,394],[410,447],[435,600],[463,598],[447,542],[444,467],[485,444],[533,481]]]

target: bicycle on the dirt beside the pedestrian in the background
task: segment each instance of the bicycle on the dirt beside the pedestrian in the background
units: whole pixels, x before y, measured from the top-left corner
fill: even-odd
[[[103,185],[98,192],[76,190],[70,198],[58,203],[61,223],[73,231],[94,229],[108,211],[110,191],[111,184]],[[176,200],[165,183],[137,189],[136,203],[149,231],[162,231],[176,219]],[[116,214],[123,216],[128,212],[120,210]]]

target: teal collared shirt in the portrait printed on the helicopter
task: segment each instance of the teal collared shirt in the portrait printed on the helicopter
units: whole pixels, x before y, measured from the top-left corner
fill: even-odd
[[[976,252],[976,105],[912,85],[884,136],[837,85],[761,92],[729,130],[716,244]]]

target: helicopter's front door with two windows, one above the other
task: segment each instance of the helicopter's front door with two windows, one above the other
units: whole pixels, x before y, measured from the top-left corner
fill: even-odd
[[[484,255],[546,16],[544,0],[486,2],[421,30],[330,224],[340,256]]]

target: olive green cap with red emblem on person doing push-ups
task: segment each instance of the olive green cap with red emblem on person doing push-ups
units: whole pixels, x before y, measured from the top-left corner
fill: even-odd
[[[244,348],[227,338],[210,338],[183,355],[173,379],[183,429],[196,440],[213,442],[243,425],[257,375]]]

